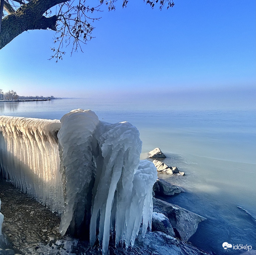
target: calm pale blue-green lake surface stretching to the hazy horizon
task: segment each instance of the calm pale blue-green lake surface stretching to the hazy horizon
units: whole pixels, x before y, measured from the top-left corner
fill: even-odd
[[[242,254],[224,250],[223,242],[255,249],[255,111],[174,110],[172,105],[136,105],[61,99],[0,103],[0,114],[60,119],[72,109],[91,109],[100,120],[135,125],[143,142],[142,156],[155,147],[165,163],[186,176],[159,178],[185,189],[169,199],[207,218],[189,241],[212,254]]]

